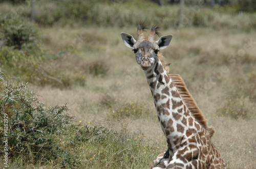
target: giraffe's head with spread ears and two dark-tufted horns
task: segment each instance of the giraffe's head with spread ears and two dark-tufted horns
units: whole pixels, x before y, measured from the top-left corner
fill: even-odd
[[[133,38],[132,35],[121,33],[124,45],[133,48],[136,61],[143,70],[147,70],[156,63],[157,53],[160,49],[166,48],[173,37],[172,35],[166,35],[160,37],[158,41],[155,41],[155,34],[159,35],[159,27],[153,26],[148,37],[145,37],[143,34],[143,30],[145,29],[145,23],[141,22],[137,29],[137,41]]]

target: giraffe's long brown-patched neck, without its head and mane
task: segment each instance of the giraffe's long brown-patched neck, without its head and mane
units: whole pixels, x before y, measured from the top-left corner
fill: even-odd
[[[187,139],[195,136],[194,117],[182,101],[172,79],[158,60],[151,70],[144,71],[157,110],[158,120],[166,137],[170,155],[178,150]]]

